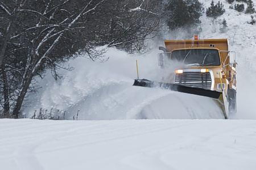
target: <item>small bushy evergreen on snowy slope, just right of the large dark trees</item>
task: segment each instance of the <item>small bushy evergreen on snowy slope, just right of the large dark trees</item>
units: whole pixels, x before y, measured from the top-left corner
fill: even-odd
[[[209,17],[217,18],[218,16],[224,14],[225,9],[224,5],[218,1],[216,5],[214,5],[214,2],[210,3],[210,7],[207,8],[206,15]]]

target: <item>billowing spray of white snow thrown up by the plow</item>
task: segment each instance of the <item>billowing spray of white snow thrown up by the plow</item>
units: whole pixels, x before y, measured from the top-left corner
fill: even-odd
[[[47,75],[41,82],[42,91],[26,108],[28,115],[39,108],[53,108],[65,111],[68,119],[79,112],[79,120],[223,118],[211,99],[203,99],[203,104],[200,96],[132,86],[137,78],[136,60],[140,78],[159,80],[157,53],[130,56],[110,48],[106,56],[110,59],[104,63],[82,57],[69,62],[75,69],[63,70],[59,82]]]

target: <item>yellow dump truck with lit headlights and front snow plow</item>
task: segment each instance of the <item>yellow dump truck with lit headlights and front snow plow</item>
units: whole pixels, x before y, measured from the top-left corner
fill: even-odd
[[[211,97],[225,119],[236,113],[236,53],[229,50],[228,39],[166,40],[158,65],[164,76],[159,82],[135,79],[133,86],[160,87],[187,94]]]

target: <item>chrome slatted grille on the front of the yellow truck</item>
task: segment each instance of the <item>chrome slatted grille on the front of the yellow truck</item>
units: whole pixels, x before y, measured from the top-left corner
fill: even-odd
[[[209,72],[183,72],[182,74],[175,75],[175,84],[210,90],[212,79],[210,78]]]

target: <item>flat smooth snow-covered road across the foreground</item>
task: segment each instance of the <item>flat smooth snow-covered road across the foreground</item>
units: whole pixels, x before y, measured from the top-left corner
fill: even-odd
[[[0,120],[0,169],[255,169],[255,120]]]

